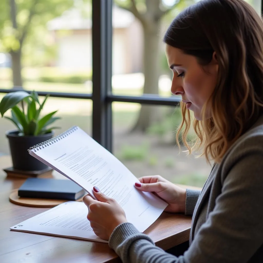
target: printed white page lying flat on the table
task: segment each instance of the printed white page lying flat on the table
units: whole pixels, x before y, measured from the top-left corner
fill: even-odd
[[[94,234],[87,220],[87,214],[88,208],[84,203],[68,201],[14,225],[10,229],[108,243]]]

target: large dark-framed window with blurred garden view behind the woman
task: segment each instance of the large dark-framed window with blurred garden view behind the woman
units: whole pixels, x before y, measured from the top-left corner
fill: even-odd
[[[160,69],[156,71],[157,80],[154,78],[147,84],[148,87],[155,85],[150,92],[149,89],[143,91],[144,77],[146,79],[151,73],[143,73],[145,35],[140,19],[125,10],[127,6],[120,7],[124,2],[61,1],[60,13],[32,29],[29,37],[36,38],[33,42],[36,47],[32,49],[32,39],[31,44],[24,43],[23,88],[28,92],[36,90],[39,95],[50,94],[48,107],[59,109],[58,115],[62,119],[57,124],[62,130],[79,125],[136,176],[160,174],[175,183],[202,186],[210,165],[204,159],[186,157],[185,153],[178,155],[175,145],[176,105],[180,98],[170,95],[171,75],[161,43],[162,34],[176,11],[195,1],[180,1],[178,9],[166,13],[161,19],[159,38],[153,43],[158,47],[159,57],[155,61]],[[260,0],[247,2],[261,13]],[[163,3],[169,9],[176,1],[163,0]],[[145,7],[140,4],[140,8]],[[39,17],[44,19],[45,16]],[[43,23],[47,26],[43,27]],[[0,41],[4,37],[0,35]],[[4,93],[14,90],[11,89],[11,54],[3,51],[3,45],[0,48],[0,97],[3,97]],[[34,50],[34,56],[30,56],[31,50]],[[51,57],[55,54],[54,59],[47,62],[43,58],[44,52]],[[36,71],[36,68],[40,70]],[[142,112],[144,117],[139,118],[143,116]],[[149,112],[154,114],[149,115]],[[13,127],[5,119],[1,121],[0,152],[8,153],[3,134]],[[196,169],[191,170],[189,163]]]

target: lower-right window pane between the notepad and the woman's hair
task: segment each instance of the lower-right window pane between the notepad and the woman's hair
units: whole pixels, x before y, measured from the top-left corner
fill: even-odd
[[[179,154],[175,142],[180,110],[167,106],[144,106],[154,111],[156,122],[145,131],[134,130],[140,104],[113,103],[113,153],[136,176],[159,174],[173,183],[202,187],[211,166],[194,155]],[[193,136],[191,131],[189,138]],[[195,153],[195,155],[197,155]]]

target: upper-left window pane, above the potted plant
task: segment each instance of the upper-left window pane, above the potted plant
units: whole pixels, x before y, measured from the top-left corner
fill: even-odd
[[[34,1],[1,3],[6,16],[0,18],[0,88],[92,93],[91,0],[48,0],[36,8]],[[16,7],[14,18],[23,40],[23,34],[12,34],[9,3]],[[28,10],[36,12],[32,19]]]

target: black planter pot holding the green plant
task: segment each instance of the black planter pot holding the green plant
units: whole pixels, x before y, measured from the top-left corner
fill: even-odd
[[[28,149],[53,137],[54,132],[38,136],[18,136],[18,131],[7,131],[13,168],[23,171],[39,171],[48,168],[28,153]]]

